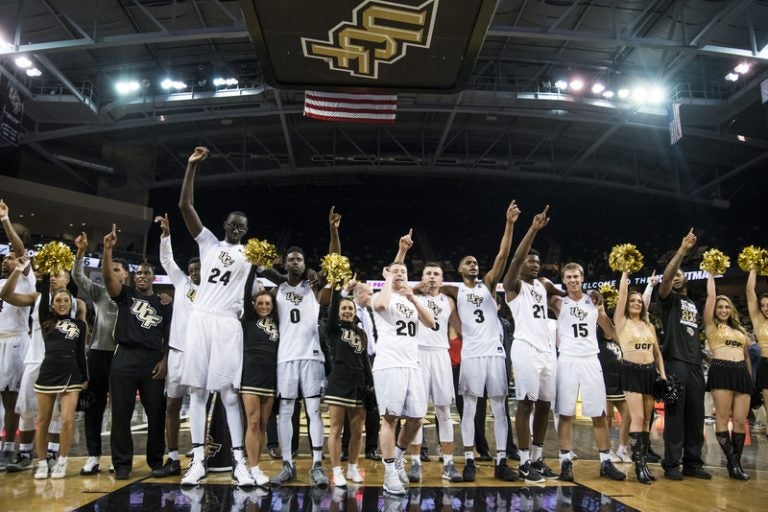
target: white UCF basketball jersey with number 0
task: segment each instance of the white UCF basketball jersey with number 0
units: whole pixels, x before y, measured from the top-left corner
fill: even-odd
[[[280,317],[280,344],[277,362],[315,359],[325,361],[320,348],[317,320],[320,304],[309,281],[296,286],[283,283],[277,288],[277,314]]]

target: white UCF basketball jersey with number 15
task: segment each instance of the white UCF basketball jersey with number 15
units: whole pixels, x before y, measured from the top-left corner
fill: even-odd
[[[557,317],[560,354],[591,356],[600,353],[597,345],[597,316],[599,312],[589,295],[574,300],[563,297]]]

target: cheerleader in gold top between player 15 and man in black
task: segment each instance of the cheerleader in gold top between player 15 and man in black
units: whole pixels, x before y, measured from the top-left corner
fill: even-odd
[[[651,445],[650,417],[653,411],[653,385],[656,372],[666,380],[664,361],[656,339],[656,329],[648,320],[643,295],[629,291],[629,273],[621,274],[619,297],[613,322],[622,352],[621,388],[629,407],[629,437],[635,476],[638,482],[655,480],[648,470],[648,447]]]

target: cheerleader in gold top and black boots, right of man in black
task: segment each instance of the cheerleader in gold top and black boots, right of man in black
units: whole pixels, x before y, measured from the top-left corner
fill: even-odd
[[[747,347],[747,333],[731,299],[717,295],[715,279],[707,278],[707,302],[704,304],[704,329],[712,364],[707,391],[715,403],[715,436],[728,459],[728,475],[749,480],[741,469],[741,452],[746,437],[747,413],[752,395],[752,368]],[[733,433],[728,420],[733,417]]]

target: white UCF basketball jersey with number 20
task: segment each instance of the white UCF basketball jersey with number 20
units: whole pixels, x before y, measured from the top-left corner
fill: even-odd
[[[385,368],[419,368],[419,345],[416,336],[419,312],[408,299],[392,292],[385,310],[374,309],[379,341],[376,343],[374,370]]]

